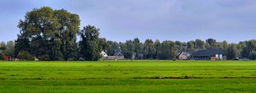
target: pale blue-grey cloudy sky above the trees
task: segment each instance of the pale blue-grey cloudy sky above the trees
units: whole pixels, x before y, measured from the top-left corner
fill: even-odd
[[[256,39],[255,0],[0,0],[0,41],[16,39],[18,20],[33,8],[65,8],[117,42]]]

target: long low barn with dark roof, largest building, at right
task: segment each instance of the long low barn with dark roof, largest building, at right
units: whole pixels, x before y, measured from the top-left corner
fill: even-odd
[[[201,49],[193,52],[192,56],[196,60],[223,60],[224,51],[220,49]]]

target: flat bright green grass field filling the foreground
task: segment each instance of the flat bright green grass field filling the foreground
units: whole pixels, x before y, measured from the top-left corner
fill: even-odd
[[[255,92],[256,61],[0,61],[0,92]]]

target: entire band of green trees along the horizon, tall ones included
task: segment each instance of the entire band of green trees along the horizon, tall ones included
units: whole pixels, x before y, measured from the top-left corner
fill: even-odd
[[[114,42],[100,37],[100,29],[93,25],[86,25],[80,30],[80,18],[75,13],[64,9],[53,10],[50,7],[34,8],[28,11],[23,20],[18,23],[20,33],[15,40],[15,46],[7,56],[24,60],[88,60],[97,61],[101,58],[100,52],[112,56],[119,49],[124,58],[139,58],[143,54],[146,59],[174,59],[178,52],[197,51],[199,49],[221,49],[228,59],[243,56],[256,58],[256,40],[228,44],[216,42],[215,39],[191,40],[179,42],[158,39],[139,38],[126,42]],[[77,41],[77,37],[80,38]],[[5,46],[6,48],[9,46]],[[0,46],[1,49],[4,46]]]

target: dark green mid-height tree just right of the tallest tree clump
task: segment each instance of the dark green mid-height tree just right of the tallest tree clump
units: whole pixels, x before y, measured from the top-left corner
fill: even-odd
[[[89,61],[97,61],[101,58],[100,52],[100,29],[87,25],[80,30],[79,34],[82,39],[80,42],[80,57]]]

